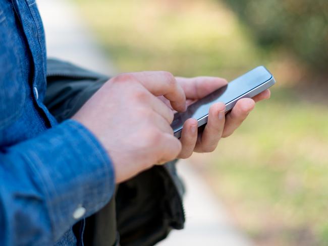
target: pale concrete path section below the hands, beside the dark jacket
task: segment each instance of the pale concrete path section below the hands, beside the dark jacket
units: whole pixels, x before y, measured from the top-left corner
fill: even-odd
[[[186,183],[186,225],[158,243],[160,246],[206,245],[246,246],[251,242],[237,231],[223,205],[217,201],[191,164],[180,160],[178,172]]]

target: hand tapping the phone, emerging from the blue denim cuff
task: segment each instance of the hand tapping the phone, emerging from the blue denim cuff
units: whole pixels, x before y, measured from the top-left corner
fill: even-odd
[[[141,72],[107,81],[73,116],[111,156],[117,182],[181,152],[170,126],[173,111],[158,100],[160,95],[173,109],[186,109],[185,93],[172,74]]]

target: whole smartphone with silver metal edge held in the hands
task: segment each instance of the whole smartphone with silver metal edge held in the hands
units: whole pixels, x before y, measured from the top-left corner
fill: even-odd
[[[241,98],[251,98],[270,88],[276,83],[274,76],[263,66],[257,67],[228,85],[217,89],[202,99],[190,104],[185,112],[175,113],[171,127],[174,136],[181,137],[184,122],[189,118],[198,121],[198,128],[206,125],[209,107],[216,102],[226,104],[226,112],[230,111]]]

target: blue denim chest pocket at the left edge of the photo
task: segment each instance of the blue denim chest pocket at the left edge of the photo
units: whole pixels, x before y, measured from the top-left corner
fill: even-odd
[[[8,4],[0,8],[0,130],[18,119],[26,96],[22,65],[16,55],[22,40]]]

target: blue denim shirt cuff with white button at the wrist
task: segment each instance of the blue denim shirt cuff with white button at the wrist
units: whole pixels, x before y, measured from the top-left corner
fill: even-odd
[[[69,229],[77,220],[100,210],[115,191],[114,167],[98,140],[75,120],[47,130],[28,141],[24,156],[30,163],[54,230]],[[59,232],[58,231],[58,232]]]

